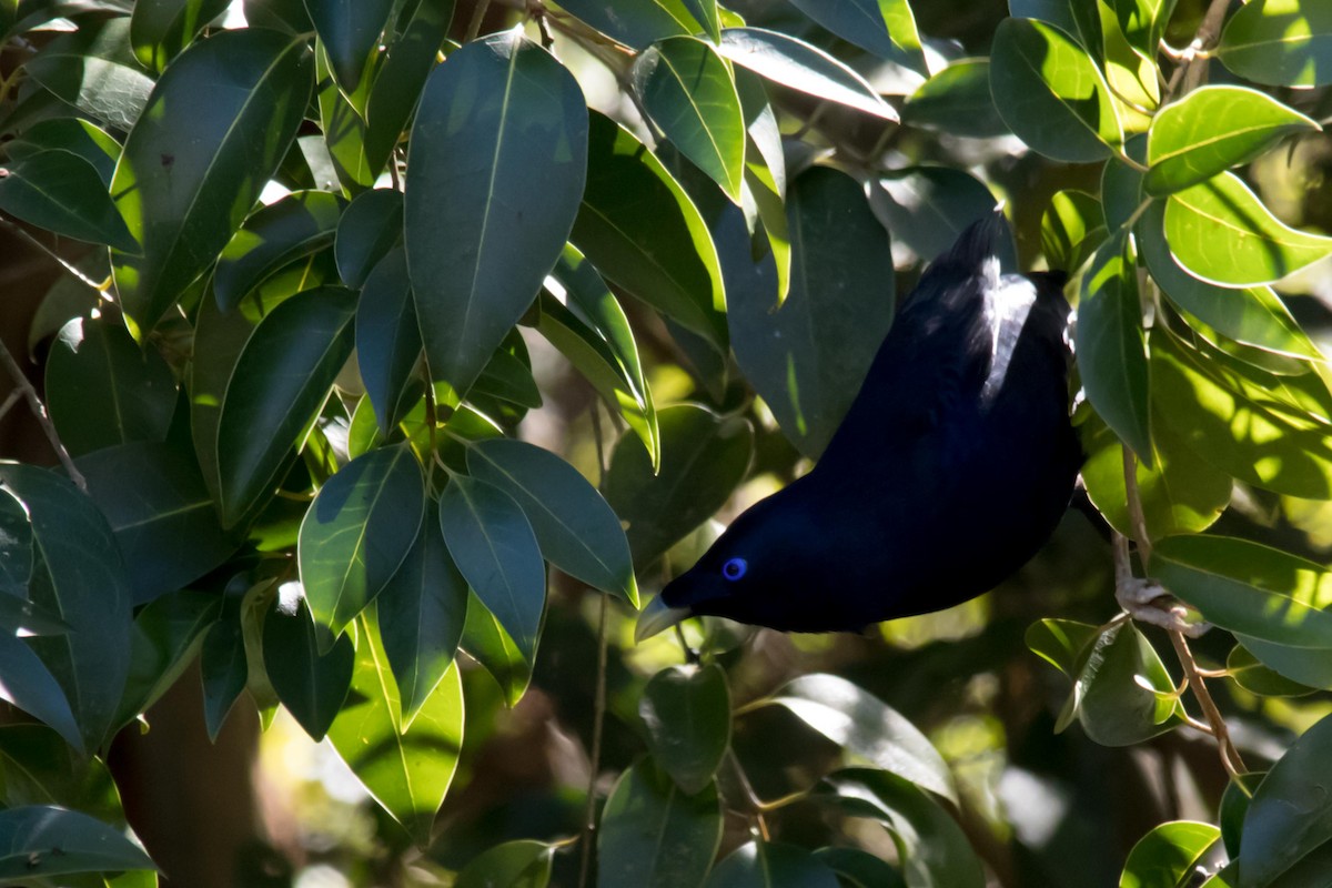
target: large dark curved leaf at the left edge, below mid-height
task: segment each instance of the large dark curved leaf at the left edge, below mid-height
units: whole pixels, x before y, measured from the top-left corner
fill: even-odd
[[[45,469],[0,463],[0,482],[32,519],[29,598],[69,626],[25,639],[68,698],[83,751],[108,739],[129,670],[129,579],[116,539],[92,501]],[[59,726],[52,726],[57,727]]]

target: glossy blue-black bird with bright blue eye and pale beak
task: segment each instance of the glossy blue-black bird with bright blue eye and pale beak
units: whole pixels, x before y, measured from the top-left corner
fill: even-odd
[[[860,631],[998,584],[1054,533],[1083,462],[1063,273],[1000,274],[1007,225],[924,272],[805,477],[755,503],[639,615]]]

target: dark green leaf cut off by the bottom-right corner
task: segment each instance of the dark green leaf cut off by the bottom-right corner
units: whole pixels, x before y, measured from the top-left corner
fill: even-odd
[[[1332,839],[1332,799],[1321,792],[1329,762],[1332,719],[1324,718],[1285,751],[1249,800],[1239,888],[1273,884]]]

